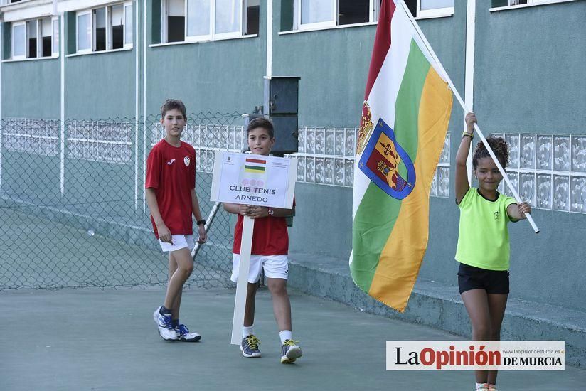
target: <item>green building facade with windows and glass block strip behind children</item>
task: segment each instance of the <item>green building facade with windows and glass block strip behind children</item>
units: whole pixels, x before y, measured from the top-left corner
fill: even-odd
[[[265,77],[300,77],[292,252],[347,262],[356,128],[377,1],[4,2],[3,186],[15,170],[8,153],[20,151],[34,164],[54,167],[55,186],[47,191],[55,198],[70,193],[69,184],[88,191],[68,176],[63,161],[73,157],[108,165],[110,177],[134,178],[109,186],[132,193],[140,209],[144,156],[153,139],[139,125],[167,97],[183,100],[188,112],[247,113],[262,105]],[[511,145],[508,173],[534,207],[539,235],[525,222],[510,228],[511,296],[586,311],[586,2],[417,0],[407,6],[481,129]],[[449,286],[457,284],[454,161],[464,114],[454,104],[420,273]],[[105,120],[114,125],[100,133]],[[65,129],[71,121],[78,126]],[[214,146],[196,148],[211,153]]]

